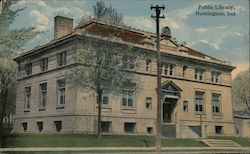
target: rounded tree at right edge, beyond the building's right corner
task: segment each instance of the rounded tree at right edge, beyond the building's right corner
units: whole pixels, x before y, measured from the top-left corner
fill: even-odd
[[[241,72],[233,80],[234,104],[246,108],[250,112],[250,68]]]

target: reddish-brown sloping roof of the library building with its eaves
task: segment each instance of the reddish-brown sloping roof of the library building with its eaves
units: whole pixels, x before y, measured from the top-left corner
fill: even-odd
[[[87,32],[87,33],[92,34],[92,35],[101,36],[101,37],[107,37],[107,36],[117,37],[124,42],[134,43],[134,44],[138,44],[138,45],[143,45],[143,42],[149,42],[149,40],[151,40],[151,42],[153,42],[154,44],[156,42],[156,35],[154,33],[131,28],[128,26],[112,25],[112,24],[109,24],[107,22],[97,21],[94,19],[94,20],[90,20],[88,22],[85,22],[82,25],[76,26],[73,29],[73,31],[66,36],[63,36],[59,39],[54,39],[47,44],[35,47],[34,49],[32,49],[28,52],[22,53],[20,56],[15,58],[15,60],[18,60],[20,57],[26,56],[28,54],[39,52],[39,50],[41,50],[45,47],[56,44],[57,42],[68,39],[69,37],[72,37],[74,35],[78,35],[79,30],[82,30],[82,31]],[[147,39],[147,41],[145,41],[145,39]],[[176,46],[176,49],[179,47],[181,47],[182,49],[185,49],[184,52],[187,55],[190,55],[192,57],[201,58],[201,59],[209,58],[209,59],[213,60],[213,62],[217,62],[219,64],[229,66],[229,64],[224,62],[224,61],[220,61],[214,57],[208,56],[208,55],[203,54],[199,51],[191,49],[191,48],[187,47],[186,45],[178,44],[173,39],[170,39],[170,41],[173,42],[173,44]],[[154,48],[154,46],[152,46],[152,47]]]

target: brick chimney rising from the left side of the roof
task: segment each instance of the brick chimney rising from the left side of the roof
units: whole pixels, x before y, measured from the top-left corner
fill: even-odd
[[[73,29],[73,19],[62,16],[54,18],[54,39],[70,34]]]

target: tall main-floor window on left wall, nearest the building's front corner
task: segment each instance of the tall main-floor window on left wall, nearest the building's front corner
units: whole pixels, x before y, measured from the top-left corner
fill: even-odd
[[[57,80],[58,97],[57,105],[63,106],[65,104],[65,79]]]

